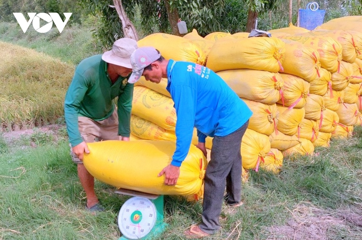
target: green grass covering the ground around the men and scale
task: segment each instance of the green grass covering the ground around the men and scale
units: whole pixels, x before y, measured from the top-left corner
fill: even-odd
[[[330,148],[316,149],[318,156],[285,158],[279,175],[250,172],[243,184],[245,204],[235,213],[223,206],[222,229],[205,239],[267,239],[268,229],[284,226],[302,204],[335,216],[341,209],[361,209],[361,136],[362,128],[356,127],[353,138],[333,140]],[[118,239],[117,214],[129,197],[96,181],[106,211],[89,214],[67,140],[56,142],[36,131],[31,138],[40,144],[22,150],[7,146],[10,151],[0,154],[0,239]],[[164,202],[169,226],[159,239],[184,239],[182,232],[201,221],[201,202],[174,196],[165,196]],[[362,239],[362,227],[331,225],[326,235]]]

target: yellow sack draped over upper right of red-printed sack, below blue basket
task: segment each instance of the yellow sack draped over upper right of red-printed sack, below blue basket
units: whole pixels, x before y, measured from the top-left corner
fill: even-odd
[[[324,36],[290,36],[286,37],[286,39],[303,43],[304,46],[317,50],[321,67],[332,73],[338,72],[339,64],[342,60],[342,46],[333,38]]]

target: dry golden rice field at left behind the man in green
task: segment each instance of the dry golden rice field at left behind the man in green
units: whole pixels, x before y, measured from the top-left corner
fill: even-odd
[[[74,66],[34,50],[0,42],[0,132],[55,123]]]

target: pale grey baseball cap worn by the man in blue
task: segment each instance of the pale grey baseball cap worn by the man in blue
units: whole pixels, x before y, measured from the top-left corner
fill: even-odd
[[[129,83],[135,83],[142,76],[144,68],[161,57],[153,47],[139,47],[131,54],[132,74]]]

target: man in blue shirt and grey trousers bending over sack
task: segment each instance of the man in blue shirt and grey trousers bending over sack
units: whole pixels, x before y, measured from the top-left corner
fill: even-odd
[[[177,115],[177,140],[171,164],[159,173],[159,176],[165,175],[165,184],[177,183],[194,127],[197,129],[197,147],[205,156],[205,138],[214,137],[205,174],[202,223],[184,232],[188,238],[209,236],[220,228],[225,183],[227,204],[242,204],[240,145],[252,112],[216,73],[201,65],[165,60],[153,47],[136,49],[131,55],[131,64],[130,83],[141,76],[154,83],[168,78],[166,89],[171,94]]]

